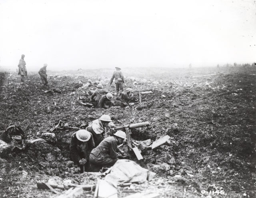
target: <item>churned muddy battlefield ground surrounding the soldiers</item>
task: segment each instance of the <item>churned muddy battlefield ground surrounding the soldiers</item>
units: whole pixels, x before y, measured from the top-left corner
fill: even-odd
[[[157,175],[146,184],[119,188],[121,196],[153,191],[162,197],[256,197],[255,68],[122,71],[125,87],[153,94],[145,96],[141,104],[107,110],[87,108],[78,99],[90,97],[90,90],[83,87],[89,78],[114,92],[114,86],[107,86],[113,70],[48,71],[48,87],[41,84],[36,72],[29,73],[26,84],[20,84],[16,73],[2,72],[1,127],[18,124],[30,139],[49,132],[59,120],[73,127],[102,114],[110,114],[116,125],[149,121],[150,127],[134,131],[134,139],[156,140],[168,134],[177,146],[142,152],[144,160],[133,158]],[[207,74],[215,75],[202,76]],[[53,87],[62,92],[44,93]],[[53,196],[49,190],[38,190],[36,181],[47,182],[54,176],[75,184],[95,184],[97,176],[79,174],[76,167],[67,165],[70,136],[75,131],[56,130],[57,144],[28,144],[21,152],[2,156],[8,166],[7,173],[0,176],[0,196]],[[93,193],[86,194],[92,197]]]

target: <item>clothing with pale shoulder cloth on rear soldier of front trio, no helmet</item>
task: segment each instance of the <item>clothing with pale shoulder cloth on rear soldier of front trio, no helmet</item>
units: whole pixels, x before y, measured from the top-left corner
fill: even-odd
[[[95,146],[98,146],[105,138],[106,128],[99,119],[92,121],[86,130],[92,134]]]

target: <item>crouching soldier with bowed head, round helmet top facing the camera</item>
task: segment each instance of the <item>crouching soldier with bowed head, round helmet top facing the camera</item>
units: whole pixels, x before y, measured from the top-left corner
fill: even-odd
[[[92,134],[87,130],[81,129],[74,132],[70,141],[71,159],[80,167],[80,172],[88,170],[90,152],[95,148]]]

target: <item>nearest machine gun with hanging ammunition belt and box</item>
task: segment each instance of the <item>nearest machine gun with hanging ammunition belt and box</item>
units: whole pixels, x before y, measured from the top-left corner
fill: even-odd
[[[138,158],[138,160],[143,159],[143,157],[140,154],[140,151],[138,150],[138,147],[136,147],[138,145],[136,145],[136,146],[134,146],[134,144],[132,145],[131,129],[145,127],[145,126],[150,126],[150,123],[149,122],[139,122],[139,123],[135,123],[135,124],[127,124],[127,125],[123,125],[123,126],[117,126],[117,127],[113,128],[114,131],[118,131],[118,130],[125,131],[128,150],[133,150],[136,157]]]

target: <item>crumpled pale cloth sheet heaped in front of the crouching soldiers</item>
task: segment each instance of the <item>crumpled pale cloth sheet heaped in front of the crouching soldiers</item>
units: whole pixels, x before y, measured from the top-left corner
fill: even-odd
[[[148,177],[148,175],[150,176]],[[136,164],[131,160],[118,160],[114,166],[110,168],[110,173],[106,175],[105,180],[115,184],[122,183],[144,183],[147,178],[152,179],[153,174]]]

